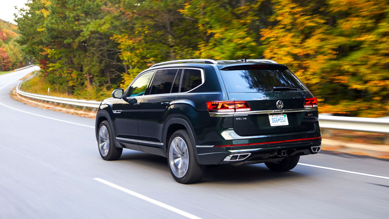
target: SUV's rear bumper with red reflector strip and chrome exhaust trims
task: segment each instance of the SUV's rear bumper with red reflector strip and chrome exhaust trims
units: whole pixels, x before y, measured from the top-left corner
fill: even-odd
[[[247,144],[244,146],[196,146],[198,154],[198,163],[209,164],[231,164],[231,163],[262,163],[271,161],[272,159],[284,158],[288,156],[302,156],[308,154],[317,154],[317,147],[321,146],[321,134],[315,133],[309,136],[285,136],[283,139],[277,138],[260,138],[250,139],[250,142],[262,142]],[[301,139],[301,140],[300,140]],[[302,140],[308,139],[308,140]],[[268,140],[268,141],[266,141]],[[297,140],[297,141],[288,141]],[[269,142],[269,144],[263,144]],[[274,143],[276,142],[276,143]],[[281,143],[277,143],[281,142]],[[314,147],[312,149],[312,147]],[[316,148],[315,148],[316,147]],[[234,161],[239,154],[249,154],[248,156],[242,156],[244,160]],[[227,159],[226,159],[227,158]]]

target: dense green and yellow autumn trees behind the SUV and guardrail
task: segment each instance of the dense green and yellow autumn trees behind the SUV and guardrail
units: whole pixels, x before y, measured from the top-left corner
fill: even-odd
[[[319,98],[320,112],[389,112],[387,0],[29,0],[27,6],[16,19],[18,43],[39,60],[45,83],[81,98],[126,88],[157,62],[247,56],[286,64]]]

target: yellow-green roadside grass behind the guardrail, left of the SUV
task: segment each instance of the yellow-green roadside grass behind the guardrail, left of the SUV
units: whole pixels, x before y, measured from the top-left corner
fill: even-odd
[[[48,91],[50,89],[50,91]],[[40,95],[49,95],[62,98],[72,98],[72,99],[81,99],[81,100],[96,100],[102,101],[110,97],[110,92],[106,88],[96,88],[96,87],[86,87],[83,90],[78,90],[76,93],[66,93],[58,90],[53,85],[48,83],[41,73],[38,73],[35,77],[24,82],[20,90],[36,93]]]

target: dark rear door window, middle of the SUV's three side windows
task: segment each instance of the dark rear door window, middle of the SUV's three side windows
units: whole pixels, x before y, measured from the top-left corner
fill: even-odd
[[[150,95],[170,93],[178,69],[159,70],[153,80]]]

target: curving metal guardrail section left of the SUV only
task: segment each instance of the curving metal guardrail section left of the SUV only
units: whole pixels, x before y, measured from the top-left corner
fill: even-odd
[[[21,91],[20,90],[21,84],[23,84],[25,81],[31,79],[35,75],[36,75],[36,73],[31,75],[30,77],[28,77],[27,79],[23,80],[22,82],[20,82],[18,84],[18,86],[16,87],[16,92],[19,95],[24,96],[24,97],[29,97],[29,98],[32,98],[32,99],[36,99],[36,100],[43,100],[43,101],[49,101],[49,102],[53,102],[53,103],[60,103],[60,104],[69,104],[69,105],[75,105],[75,106],[80,106],[80,107],[99,108],[99,106],[100,106],[101,102],[94,101],[94,100],[78,100],[78,99],[62,98],[62,97],[48,96],[48,95],[40,95],[40,94],[35,94],[35,93],[29,93],[29,92]]]

